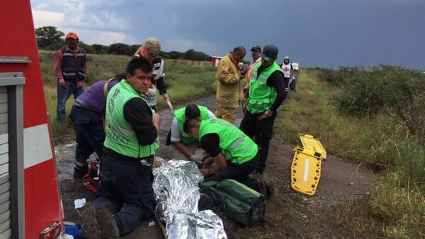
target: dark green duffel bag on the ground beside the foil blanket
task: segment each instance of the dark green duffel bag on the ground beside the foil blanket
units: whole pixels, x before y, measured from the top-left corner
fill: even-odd
[[[263,220],[264,195],[236,180],[200,182],[200,191],[211,197],[216,210],[238,223],[251,226]]]

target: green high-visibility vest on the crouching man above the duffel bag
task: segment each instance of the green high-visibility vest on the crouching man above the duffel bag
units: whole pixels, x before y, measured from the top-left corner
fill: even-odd
[[[232,163],[251,161],[259,151],[259,147],[249,136],[224,119],[207,119],[200,122],[199,140],[205,134],[212,133],[218,134],[220,151],[226,160]]]

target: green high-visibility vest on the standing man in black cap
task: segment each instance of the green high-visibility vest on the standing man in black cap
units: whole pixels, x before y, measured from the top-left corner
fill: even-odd
[[[254,71],[249,79],[249,98],[246,104],[246,110],[255,114],[264,112],[270,109],[273,102],[276,100],[275,88],[267,86],[268,76],[273,74],[275,71],[282,71],[276,62],[273,62],[271,66],[268,66],[260,75],[257,73],[257,69],[261,66],[261,62],[256,64]]]

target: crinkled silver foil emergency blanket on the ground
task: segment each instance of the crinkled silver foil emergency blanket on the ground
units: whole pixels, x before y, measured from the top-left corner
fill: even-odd
[[[210,210],[198,212],[202,180],[190,161],[171,160],[154,169],[156,213],[166,223],[168,238],[227,238],[219,216]]]

